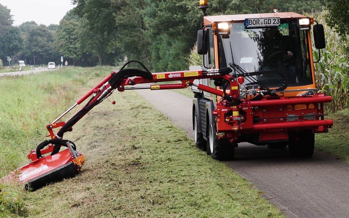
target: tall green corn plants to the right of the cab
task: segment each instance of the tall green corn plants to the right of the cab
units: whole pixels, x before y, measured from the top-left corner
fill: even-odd
[[[321,92],[332,96],[332,103],[326,104],[327,111],[334,113],[349,106],[349,81],[348,81],[348,56],[345,40],[335,32],[334,28],[327,25],[325,17],[327,11],[312,12],[308,16],[324,25],[326,48],[321,50],[319,63],[314,63],[317,86]],[[313,44],[314,60],[319,60],[319,52]]]

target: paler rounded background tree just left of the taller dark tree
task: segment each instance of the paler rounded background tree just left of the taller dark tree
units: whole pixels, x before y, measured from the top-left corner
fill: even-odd
[[[76,60],[82,56],[80,43],[80,22],[81,18],[68,12],[59,22],[56,31],[55,44],[61,55],[73,59],[73,65]]]

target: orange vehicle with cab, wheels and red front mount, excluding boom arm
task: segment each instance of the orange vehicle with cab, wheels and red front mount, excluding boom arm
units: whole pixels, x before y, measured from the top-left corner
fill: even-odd
[[[200,1],[206,14],[207,2]],[[310,31],[314,43],[325,48],[324,29],[313,18],[294,12],[204,16],[198,31],[202,66],[229,67],[233,86],[223,80],[194,82],[195,143],[215,159],[227,160],[240,142],[285,148],[297,157],[311,157],[314,133],[333,125],[324,119],[318,93]],[[320,53],[320,52],[319,52]],[[231,94],[231,102],[199,90],[195,83]]]

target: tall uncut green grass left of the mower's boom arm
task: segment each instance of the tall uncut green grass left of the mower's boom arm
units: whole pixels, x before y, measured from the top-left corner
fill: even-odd
[[[46,124],[73,104],[74,92],[110,68],[66,68],[59,72],[0,77],[0,178],[28,163],[27,153],[46,139]],[[22,190],[0,186],[0,217],[25,216]]]

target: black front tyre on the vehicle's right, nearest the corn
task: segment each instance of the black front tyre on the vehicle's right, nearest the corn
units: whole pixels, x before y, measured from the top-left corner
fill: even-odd
[[[311,130],[290,131],[288,150],[292,157],[310,158],[314,153],[315,134]]]

